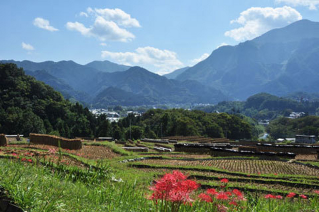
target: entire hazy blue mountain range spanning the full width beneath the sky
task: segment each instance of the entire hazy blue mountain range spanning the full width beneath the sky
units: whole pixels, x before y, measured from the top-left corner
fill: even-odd
[[[319,92],[319,23],[300,20],[194,65],[159,76],[141,67],[93,61],[13,61],[65,98],[92,106],[217,103],[267,92]]]

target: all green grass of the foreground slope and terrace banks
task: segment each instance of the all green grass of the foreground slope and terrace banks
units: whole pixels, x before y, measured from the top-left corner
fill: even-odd
[[[103,145],[120,154],[120,157],[103,160],[90,160],[74,154],[61,152],[62,155],[72,157],[87,165],[97,168],[78,168],[58,164],[48,164],[40,160],[42,165],[22,163],[12,156],[0,155],[0,189],[5,190],[8,196],[28,212],[33,211],[123,211],[123,212],[150,212],[156,211],[152,201],[145,198],[151,194],[148,187],[158,179],[163,172],[141,172],[133,164],[145,165],[143,162],[119,163],[124,159],[143,157],[144,154],[127,152],[112,142],[85,143],[85,145]],[[11,148],[12,149],[12,148]],[[14,148],[13,148],[14,149]],[[24,149],[24,148],[15,148]],[[30,150],[30,149],[26,149]],[[41,151],[41,150],[37,150]],[[47,151],[47,150],[43,150]],[[1,154],[1,152],[0,152]],[[172,153],[168,153],[172,154]],[[174,154],[174,153],[173,153]],[[170,158],[161,154],[164,158]],[[145,156],[144,156],[145,157]],[[220,159],[226,157],[219,157]],[[257,159],[255,157],[243,157]],[[34,158],[33,158],[34,159]],[[234,174],[229,177],[228,187],[239,188],[245,192],[247,201],[240,203],[239,211],[274,212],[274,211],[317,211],[319,212],[318,197],[310,197],[309,200],[295,198],[294,200],[267,200],[263,198],[266,193],[285,195],[288,191],[269,189],[260,185],[252,184],[261,180],[265,184],[292,183],[306,185],[317,184],[317,177],[301,175],[275,176],[272,174],[254,175],[240,172],[229,172],[214,167],[205,166],[172,166],[151,165],[153,168],[179,169],[189,171],[218,172],[221,175]],[[195,174],[195,173],[194,173]],[[198,173],[196,174],[198,175]],[[201,176],[205,176],[202,174]],[[219,188],[220,183],[216,177],[199,180],[206,187]],[[123,182],[116,182],[122,179]],[[289,181],[292,179],[293,181]],[[244,180],[242,183],[237,182]],[[243,185],[246,183],[247,185]],[[256,192],[254,192],[256,191]],[[208,212],[216,211],[211,204],[199,202],[196,196],[203,192],[199,189],[193,194],[193,206],[182,205],[179,212]],[[314,194],[312,194],[314,195]],[[222,202],[219,202],[222,203]],[[227,207],[228,203],[225,203]]]

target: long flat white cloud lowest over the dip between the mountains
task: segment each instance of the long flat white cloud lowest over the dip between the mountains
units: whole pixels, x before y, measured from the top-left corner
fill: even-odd
[[[175,52],[149,46],[137,48],[134,52],[102,51],[101,57],[111,58],[122,64],[151,67],[160,75],[183,67]]]

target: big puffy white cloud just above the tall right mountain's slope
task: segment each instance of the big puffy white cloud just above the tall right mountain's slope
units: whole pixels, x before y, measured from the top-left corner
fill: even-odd
[[[300,19],[302,19],[301,14],[288,6],[251,7],[241,12],[239,18],[230,22],[242,26],[225,32],[225,36],[237,41],[250,40],[271,29],[286,26]]]

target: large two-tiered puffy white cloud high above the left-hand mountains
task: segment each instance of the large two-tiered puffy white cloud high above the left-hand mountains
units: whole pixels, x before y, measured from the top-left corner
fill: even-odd
[[[81,12],[80,16],[88,17],[93,15],[95,21],[92,26],[86,27],[79,22],[67,22],[66,28],[80,32],[87,37],[95,37],[101,41],[121,41],[128,42],[135,36],[123,27],[140,27],[135,18],[120,9],[92,9]]]

